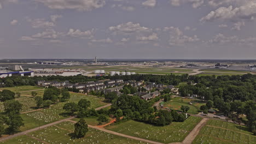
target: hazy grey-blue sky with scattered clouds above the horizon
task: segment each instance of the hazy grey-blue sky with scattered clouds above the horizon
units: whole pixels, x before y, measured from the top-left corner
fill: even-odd
[[[0,0],[0,59],[255,59],[255,21],[256,0]]]

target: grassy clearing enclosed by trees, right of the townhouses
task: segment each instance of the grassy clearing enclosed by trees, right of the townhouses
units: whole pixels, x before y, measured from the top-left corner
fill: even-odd
[[[192,103],[192,104],[190,105],[189,103]],[[193,99],[180,98],[180,97],[171,98],[171,101],[164,103],[164,107],[169,107],[172,110],[178,110],[178,111],[181,111],[182,105],[190,107],[188,113],[197,114],[199,113],[197,111],[200,110],[200,106],[205,105],[205,103],[200,100],[193,100]]]

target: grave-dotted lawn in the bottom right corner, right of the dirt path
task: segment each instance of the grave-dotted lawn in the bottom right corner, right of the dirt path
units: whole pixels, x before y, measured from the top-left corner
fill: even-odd
[[[210,119],[193,141],[197,143],[256,143],[256,136],[247,127]]]

